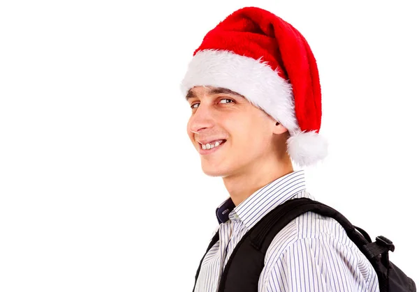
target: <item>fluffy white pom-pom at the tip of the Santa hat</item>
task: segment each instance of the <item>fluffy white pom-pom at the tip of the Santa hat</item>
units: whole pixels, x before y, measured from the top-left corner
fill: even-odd
[[[301,167],[314,164],[328,155],[328,141],[315,131],[291,134],[286,143],[291,160]]]

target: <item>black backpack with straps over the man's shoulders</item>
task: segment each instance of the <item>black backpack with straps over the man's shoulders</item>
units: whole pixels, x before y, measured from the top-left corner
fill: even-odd
[[[395,250],[395,246],[390,240],[384,236],[378,236],[372,243],[367,232],[353,226],[337,210],[307,198],[290,199],[280,204],[244,234],[228,259],[221,275],[218,291],[257,292],[265,254],[272,240],[291,220],[309,211],[332,217],[344,227],[348,237],[372,263],[378,276],[381,292],[416,292],[415,282],[389,261],[388,251]],[[218,240],[219,232],[217,231],[205,254]],[[204,257],[205,255],[203,259]],[[195,286],[203,259],[201,259],[196,272]],[[193,286],[193,290],[195,290],[195,286]]]

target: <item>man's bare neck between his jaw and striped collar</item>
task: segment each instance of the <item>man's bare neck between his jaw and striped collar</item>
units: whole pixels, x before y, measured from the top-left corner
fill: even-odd
[[[235,206],[238,206],[261,187],[292,172],[291,161],[277,162],[274,165],[265,163],[261,167],[253,166],[251,171],[242,171],[239,174],[226,176],[223,178],[223,182]]]

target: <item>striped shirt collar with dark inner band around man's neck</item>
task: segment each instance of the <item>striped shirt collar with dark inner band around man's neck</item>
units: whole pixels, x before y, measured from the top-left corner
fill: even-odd
[[[251,229],[264,215],[305,189],[304,169],[293,171],[261,187],[239,206],[229,197],[216,208],[216,218],[219,224],[241,220]]]

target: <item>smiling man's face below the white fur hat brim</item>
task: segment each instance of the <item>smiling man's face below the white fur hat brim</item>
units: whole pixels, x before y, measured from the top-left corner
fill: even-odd
[[[228,89],[196,86],[186,95],[191,106],[189,139],[200,153],[209,176],[245,174],[272,159],[275,121],[246,98]],[[222,139],[218,147],[203,150],[199,142]]]

